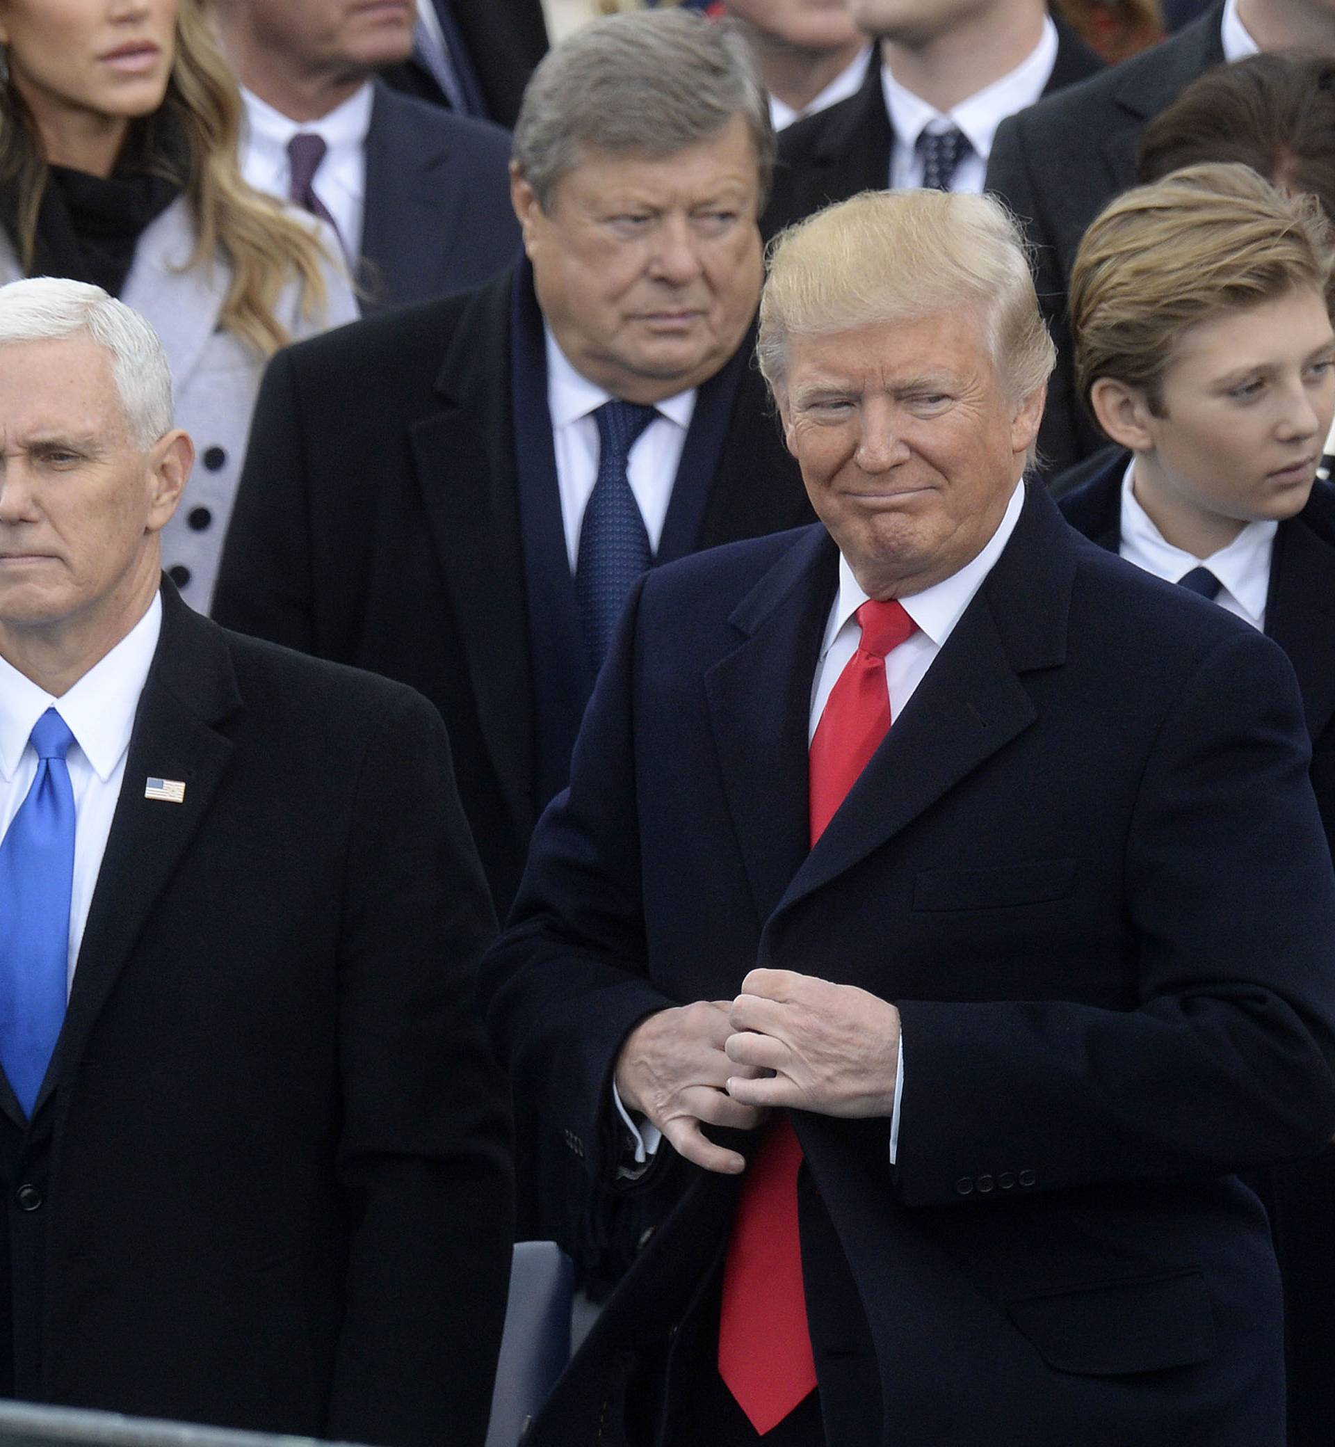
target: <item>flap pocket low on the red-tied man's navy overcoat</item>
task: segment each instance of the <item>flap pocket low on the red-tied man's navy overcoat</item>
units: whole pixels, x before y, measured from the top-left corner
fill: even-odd
[[[1199,1270],[1030,1297],[1012,1301],[1007,1314],[1059,1372],[1161,1372],[1205,1362],[1215,1350]]]

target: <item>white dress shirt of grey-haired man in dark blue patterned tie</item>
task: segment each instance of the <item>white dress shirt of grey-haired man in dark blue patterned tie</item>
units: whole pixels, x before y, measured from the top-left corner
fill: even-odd
[[[589,495],[597,482],[599,437],[593,412],[613,401],[610,392],[580,376],[557,346],[551,327],[547,331],[547,410],[551,415],[551,440],[557,457],[557,486],[561,491],[561,522],[566,528],[566,556],[574,573],[580,556],[580,527]],[[639,504],[649,547],[657,553],[673,501],[673,483],[686,433],[696,411],[691,388],[655,402],[658,417],[639,434],[626,459],[626,480]]]

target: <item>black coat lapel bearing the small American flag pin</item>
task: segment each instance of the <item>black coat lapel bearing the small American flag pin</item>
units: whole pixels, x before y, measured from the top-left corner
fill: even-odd
[[[120,799],[80,946],[65,1024],[36,1110],[68,1079],[158,896],[208,812],[231,742],[214,724],[242,706],[223,632],[163,585],[162,637],[145,683]],[[185,799],[145,799],[145,780],[185,783]],[[35,1111],[36,1114],[36,1111]]]

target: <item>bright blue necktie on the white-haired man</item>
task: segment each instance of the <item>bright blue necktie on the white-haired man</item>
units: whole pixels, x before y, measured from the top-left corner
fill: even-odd
[[[65,1019],[74,790],[68,725],[48,709],[33,725],[38,773],[0,844],[0,1065],[26,1114]]]

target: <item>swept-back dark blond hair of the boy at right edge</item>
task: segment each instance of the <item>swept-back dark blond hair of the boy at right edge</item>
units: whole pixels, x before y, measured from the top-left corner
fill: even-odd
[[[1161,415],[1182,334],[1224,311],[1312,288],[1331,302],[1331,226],[1310,195],[1250,166],[1186,166],[1125,191],[1093,220],[1070,275],[1076,379],[1141,388]]]

